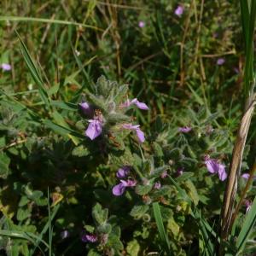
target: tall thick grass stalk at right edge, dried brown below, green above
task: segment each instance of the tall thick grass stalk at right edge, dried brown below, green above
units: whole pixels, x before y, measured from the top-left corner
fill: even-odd
[[[251,125],[251,119],[253,116],[253,111],[255,107],[255,93],[253,92],[255,85],[254,71],[253,71],[253,35],[254,35],[254,25],[256,17],[256,1],[240,1],[241,6],[241,24],[244,39],[244,52],[246,57],[246,63],[244,67],[244,94],[246,96],[244,113],[241,117],[241,123],[236,136],[236,143],[233,149],[232,160],[230,163],[230,172],[228,177],[228,182],[224,194],[224,205],[222,209],[221,217],[221,241],[219,248],[219,255],[224,253],[224,242],[228,240],[230,235],[230,230],[232,230],[232,224],[235,220],[232,216],[234,213],[234,205],[236,201],[236,191],[237,191],[237,180],[240,176],[241,171],[241,160],[247,141],[247,133]],[[253,173],[252,173],[253,175]],[[255,210],[255,209],[254,209]],[[253,209],[252,209],[253,211]],[[236,213],[236,212],[235,212]],[[250,212],[251,213],[251,212]],[[250,214],[251,215],[251,214]],[[254,223],[255,220],[252,219],[253,213],[251,215],[251,222]],[[248,218],[248,217],[247,217]],[[249,220],[247,220],[249,222]],[[246,242],[245,236],[248,235],[250,231],[248,226],[252,229],[252,223],[247,224],[246,227],[243,226],[241,230],[239,248],[242,244]],[[245,231],[246,230],[246,231]],[[243,237],[242,237],[243,236]]]

